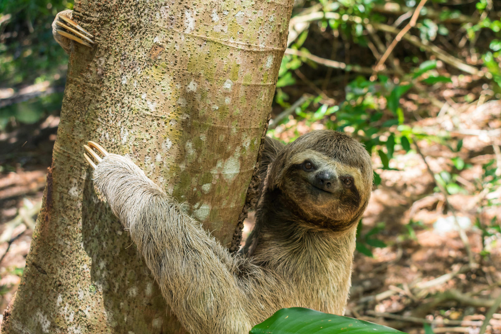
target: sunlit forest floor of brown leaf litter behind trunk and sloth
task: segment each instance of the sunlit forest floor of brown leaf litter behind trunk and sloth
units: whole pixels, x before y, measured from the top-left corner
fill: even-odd
[[[454,106],[412,124],[430,133],[452,125],[462,129],[453,134],[463,140],[458,154],[467,167],[461,170],[451,162],[457,153],[426,140],[417,142],[417,152],[395,152],[393,170],[376,168],[382,181],[372,192],[358,240],[360,249],[373,256],[355,253],[347,315],[409,333],[479,332],[493,298],[501,294],[501,234],[486,237],[475,226],[477,219],[499,224],[501,217],[501,206],[492,205],[499,204],[501,189],[482,189],[489,177],[487,162],[497,160],[496,172],[501,171],[501,154],[493,149],[501,137],[500,119],[501,102],[491,101]],[[300,134],[311,130],[302,121],[290,122]],[[26,264],[58,123],[58,117],[49,116],[0,133],[0,162],[9,167],[0,174],[0,311],[12,299]],[[276,134],[285,141],[293,136]],[[15,143],[25,144],[13,151],[19,147]],[[380,166],[379,157],[373,163]],[[454,175],[461,191],[439,191],[432,173],[440,171]],[[454,216],[460,217],[460,230]],[[251,226],[252,214],[244,235]],[[493,314],[486,332],[501,333],[501,314]]]

